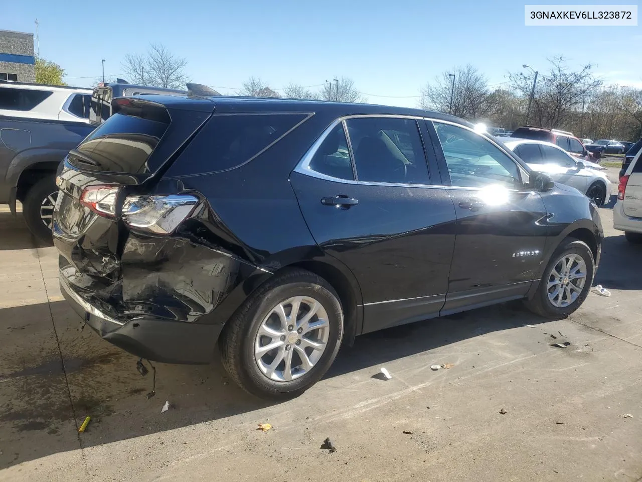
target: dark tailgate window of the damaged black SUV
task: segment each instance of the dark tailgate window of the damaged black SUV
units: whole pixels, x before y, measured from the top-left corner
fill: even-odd
[[[167,121],[114,114],[94,130],[69,163],[83,170],[140,172],[169,125]]]

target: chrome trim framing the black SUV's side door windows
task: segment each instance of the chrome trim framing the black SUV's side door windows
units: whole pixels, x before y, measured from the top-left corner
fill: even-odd
[[[299,163],[295,166],[293,169],[294,172],[298,172],[299,174],[304,174],[308,175],[309,177],[315,177],[317,179],[323,179],[324,181],[331,181],[333,183],[341,183],[341,184],[356,184],[360,186],[388,186],[388,187],[397,187],[397,188],[430,188],[430,189],[449,189],[449,190],[457,190],[457,191],[481,191],[483,188],[473,188],[473,187],[465,187],[465,186],[444,186],[443,184],[406,184],[406,183],[379,183],[376,181],[359,181],[357,178],[357,173],[356,173],[356,166],[354,165],[354,156],[352,154],[352,143],[350,141],[350,135],[348,134],[347,130],[347,125],[346,122],[347,120],[351,119],[360,119],[360,118],[372,118],[372,117],[379,117],[379,118],[394,118],[394,119],[413,119],[413,120],[423,120],[423,121],[431,121],[431,122],[442,122],[446,124],[451,124],[454,125],[455,127],[462,127],[463,129],[470,130],[474,134],[477,134],[480,136],[478,132],[475,132],[474,129],[471,129],[470,127],[467,127],[462,124],[458,124],[453,121],[447,121],[447,120],[441,120],[441,119],[435,119],[435,118],[430,118],[430,117],[422,117],[422,116],[404,116],[403,114],[352,114],[348,116],[342,116],[338,119],[335,119],[330,123],[328,127],[324,129],[324,131],[321,133],[320,136],[318,136],[317,140],[311,145],[311,147],[306,151],[306,154],[301,157]],[[322,143],[325,141],[325,138],[332,132],[332,130],[339,125],[340,123],[343,123],[343,130],[345,132],[345,138],[347,139],[348,142],[348,150],[351,156],[351,165],[352,165],[352,175],[354,176],[354,179],[342,179],[340,177],[333,177],[331,175],[327,174],[322,174],[321,172],[317,172],[313,169],[310,168],[310,163],[317,154],[318,148],[322,145]],[[506,147],[501,147],[499,143],[496,141],[489,139],[485,136],[482,136],[484,139],[489,141],[492,145],[497,147],[501,152],[506,154],[508,158],[513,161],[517,165],[517,169],[519,170],[520,174],[522,175],[522,182],[524,183],[523,179],[528,179],[529,174],[524,170],[524,168],[513,158],[512,156],[512,151],[508,150]],[[510,152],[510,154],[509,154]],[[510,189],[510,192],[523,192],[522,190],[519,189]]]

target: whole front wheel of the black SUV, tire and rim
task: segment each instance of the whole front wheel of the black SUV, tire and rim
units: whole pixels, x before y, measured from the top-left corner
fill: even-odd
[[[557,247],[526,307],[549,319],[569,316],[584,303],[593,285],[595,262],[583,241],[566,238]]]

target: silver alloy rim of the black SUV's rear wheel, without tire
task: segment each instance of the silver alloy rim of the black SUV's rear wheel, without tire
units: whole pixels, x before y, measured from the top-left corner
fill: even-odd
[[[268,379],[290,382],[317,364],[329,335],[323,305],[309,296],[295,296],[272,308],[261,322],[254,339],[254,359]]]

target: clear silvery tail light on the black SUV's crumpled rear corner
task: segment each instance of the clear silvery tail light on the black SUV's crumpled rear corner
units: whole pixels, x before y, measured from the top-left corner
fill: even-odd
[[[139,231],[169,235],[187,219],[198,198],[190,195],[132,195],[125,198],[123,220]]]

